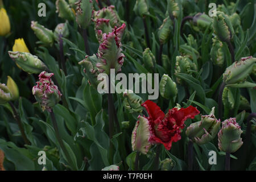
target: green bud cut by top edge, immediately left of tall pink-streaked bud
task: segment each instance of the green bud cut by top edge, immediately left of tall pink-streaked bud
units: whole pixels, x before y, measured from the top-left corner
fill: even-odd
[[[74,14],[69,6],[69,4],[65,0],[57,0],[56,4],[56,13],[59,13],[59,17],[67,20],[73,20]]]

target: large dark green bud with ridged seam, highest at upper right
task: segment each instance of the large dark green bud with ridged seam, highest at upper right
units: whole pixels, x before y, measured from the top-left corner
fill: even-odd
[[[228,15],[221,11],[217,11],[217,16],[213,18],[213,30],[214,34],[222,42],[229,42],[234,34],[234,29]]]

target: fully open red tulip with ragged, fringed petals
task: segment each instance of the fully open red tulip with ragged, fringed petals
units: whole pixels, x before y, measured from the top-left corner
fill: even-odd
[[[172,142],[181,139],[181,130],[184,128],[184,122],[188,118],[195,118],[200,111],[196,107],[173,108],[164,114],[158,105],[147,100],[142,104],[148,113],[148,122],[150,124],[150,143],[162,143],[167,150],[171,149]]]

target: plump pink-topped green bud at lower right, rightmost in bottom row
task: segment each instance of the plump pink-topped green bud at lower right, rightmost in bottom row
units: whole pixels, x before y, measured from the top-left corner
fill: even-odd
[[[218,132],[218,149],[228,153],[236,152],[243,144],[242,132],[236,118],[226,119],[222,122],[221,130]]]

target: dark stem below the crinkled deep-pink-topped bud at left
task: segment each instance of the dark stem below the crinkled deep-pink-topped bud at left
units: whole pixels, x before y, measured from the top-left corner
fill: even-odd
[[[55,118],[55,114],[51,111],[50,115],[51,115],[51,118],[52,118],[52,125],[53,125],[53,128],[55,130],[56,138],[57,138],[57,140],[60,144],[60,148],[61,148],[61,150],[63,150],[64,155],[66,156],[66,158],[68,160],[67,162],[69,163],[69,165],[73,166],[73,162],[71,160],[71,157],[69,156],[67,148],[64,146],[63,140],[60,138],[60,133],[59,133],[57,121],[56,121],[56,118]]]

